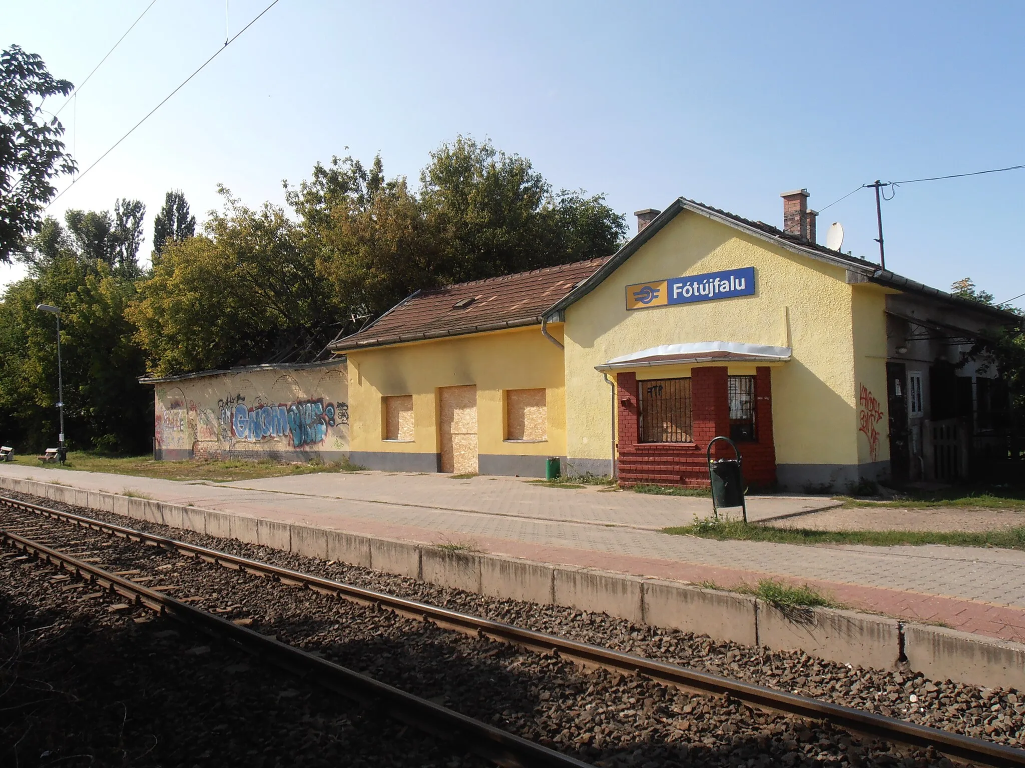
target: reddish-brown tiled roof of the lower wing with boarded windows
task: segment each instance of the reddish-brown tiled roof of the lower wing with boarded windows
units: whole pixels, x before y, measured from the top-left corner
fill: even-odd
[[[609,257],[529,272],[417,291],[359,333],[331,345],[336,351],[405,341],[530,326],[589,278]]]

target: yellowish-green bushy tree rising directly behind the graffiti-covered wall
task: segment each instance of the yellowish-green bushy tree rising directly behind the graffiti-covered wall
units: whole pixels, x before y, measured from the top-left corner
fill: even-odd
[[[254,211],[221,188],[204,232],[166,243],[127,316],[158,375],[316,356],[339,314],[298,227],[270,204]]]

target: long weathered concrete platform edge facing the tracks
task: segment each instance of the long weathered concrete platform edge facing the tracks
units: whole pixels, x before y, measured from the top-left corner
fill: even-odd
[[[0,488],[490,597],[604,612],[858,667],[894,669],[906,659],[913,671],[932,679],[1025,689],[1025,645],[981,635],[856,611],[781,609],[747,595],[683,582],[454,551],[37,480],[0,476]]]

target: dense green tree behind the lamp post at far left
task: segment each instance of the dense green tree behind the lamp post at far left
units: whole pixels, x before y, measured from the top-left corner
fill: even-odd
[[[134,291],[133,282],[106,262],[59,251],[34,261],[30,276],[7,288],[0,299],[5,441],[39,450],[56,439],[55,324],[53,315],[36,310],[47,303],[61,309],[69,444],[130,453],[150,446],[152,397],[136,381],[144,358],[125,316]]]

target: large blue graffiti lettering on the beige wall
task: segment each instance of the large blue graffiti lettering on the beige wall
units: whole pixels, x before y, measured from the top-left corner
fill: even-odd
[[[234,403],[229,404],[229,400]],[[244,397],[237,395],[221,400],[220,408],[222,421],[231,409],[233,436],[248,442],[286,437],[292,447],[298,449],[324,442],[330,427],[348,424],[348,403],[326,402],[323,397],[250,408]]]

